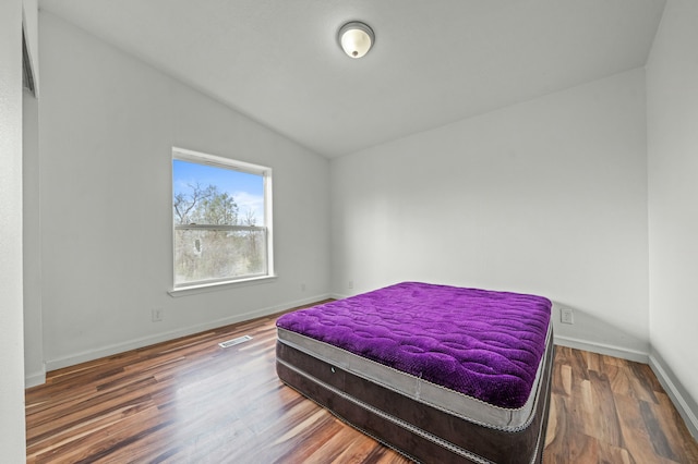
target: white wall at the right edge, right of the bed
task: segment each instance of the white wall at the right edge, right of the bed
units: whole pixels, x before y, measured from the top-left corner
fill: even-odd
[[[647,66],[650,342],[698,437],[698,3],[670,0]],[[690,412],[693,411],[693,412]]]

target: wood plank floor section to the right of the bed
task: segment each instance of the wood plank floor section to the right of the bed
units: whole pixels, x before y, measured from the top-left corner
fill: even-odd
[[[646,364],[557,346],[549,463],[698,463],[698,444]]]

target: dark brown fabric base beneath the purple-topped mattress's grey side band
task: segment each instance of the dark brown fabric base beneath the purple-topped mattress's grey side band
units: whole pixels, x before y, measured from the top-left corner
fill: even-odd
[[[456,417],[277,342],[279,378],[337,417],[423,463],[540,463],[545,444],[551,344],[534,418],[524,430],[496,430]]]

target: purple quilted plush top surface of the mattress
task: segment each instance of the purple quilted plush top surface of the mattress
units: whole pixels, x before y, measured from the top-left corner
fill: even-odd
[[[277,326],[518,408],[535,381],[551,307],[542,296],[402,282],[286,314]]]

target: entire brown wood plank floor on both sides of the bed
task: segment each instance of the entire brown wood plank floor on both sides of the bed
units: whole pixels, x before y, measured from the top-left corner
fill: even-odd
[[[275,320],[49,373],[26,391],[27,462],[409,462],[278,380]],[[545,463],[698,463],[648,366],[558,346],[553,375]]]

